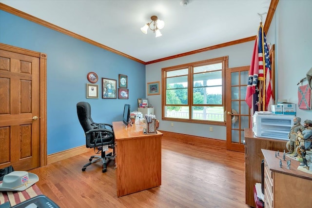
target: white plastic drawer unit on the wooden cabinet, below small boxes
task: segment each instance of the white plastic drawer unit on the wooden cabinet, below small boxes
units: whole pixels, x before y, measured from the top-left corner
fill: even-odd
[[[256,137],[289,140],[288,133],[293,125],[291,115],[254,114],[253,131]]]

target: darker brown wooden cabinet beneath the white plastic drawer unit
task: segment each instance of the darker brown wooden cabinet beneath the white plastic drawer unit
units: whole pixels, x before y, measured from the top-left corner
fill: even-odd
[[[287,141],[255,137],[250,128],[245,128],[244,131],[246,204],[255,207],[254,185],[261,183],[261,162],[263,159],[261,149],[283,152],[286,149]]]

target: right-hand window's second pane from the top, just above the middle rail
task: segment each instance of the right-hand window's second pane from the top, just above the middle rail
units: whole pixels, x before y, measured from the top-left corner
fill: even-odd
[[[215,86],[222,85],[222,71],[195,74],[193,86]]]

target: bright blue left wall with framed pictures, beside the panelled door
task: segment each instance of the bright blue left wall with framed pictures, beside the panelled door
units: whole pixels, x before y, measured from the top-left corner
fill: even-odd
[[[0,42],[47,54],[47,153],[85,145],[76,104],[87,101],[95,122],[121,121],[123,105],[145,97],[145,65],[0,10]],[[87,74],[128,76],[129,100],[86,99]]]

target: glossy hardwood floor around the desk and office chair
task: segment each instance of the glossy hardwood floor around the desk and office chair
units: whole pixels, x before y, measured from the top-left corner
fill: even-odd
[[[37,186],[61,208],[249,208],[244,153],[163,137],[162,185],[122,197],[117,197],[114,161],[106,173],[100,163],[81,171],[93,153],[29,172],[39,176]]]

